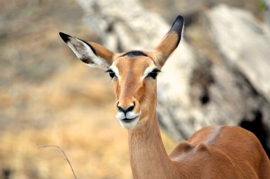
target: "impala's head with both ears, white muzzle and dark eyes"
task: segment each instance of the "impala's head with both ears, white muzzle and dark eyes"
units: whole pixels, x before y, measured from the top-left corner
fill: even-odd
[[[120,54],[94,42],[59,34],[82,62],[106,69],[114,83],[116,118],[124,128],[134,128],[156,115],[156,76],[178,46],[183,27],[184,18],[178,16],[154,50]]]

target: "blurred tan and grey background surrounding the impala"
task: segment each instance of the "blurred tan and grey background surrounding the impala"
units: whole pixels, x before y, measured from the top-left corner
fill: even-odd
[[[132,178],[127,133],[103,70],[58,32],[115,52],[153,49],[177,15],[184,40],[158,78],[170,152],[207,125],[256,133],[269,156],[269,1],[0,1],[0,178]]]

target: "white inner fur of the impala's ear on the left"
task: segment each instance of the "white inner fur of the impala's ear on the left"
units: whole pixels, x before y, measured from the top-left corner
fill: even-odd
[[[89,47],[82,40],[76,37],[71,37],[70,41],[68,41],[66,44],[68,44],[79,59],[91,59],[91,61],[93,61],[93,63],[85,63],[86,65],[94,67],[97,66],[104,69],[109,67],[109,64],[103,58],[96,56],[91,47]]]

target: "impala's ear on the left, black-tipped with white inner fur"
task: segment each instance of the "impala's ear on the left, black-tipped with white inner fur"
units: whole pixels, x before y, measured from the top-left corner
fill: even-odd
[[[115,53],[106,49],[98,43],[86,42],[62,32],[60,37],[72,49],[76,56],[89,66],[98,66],[104,69],[114,62]]]

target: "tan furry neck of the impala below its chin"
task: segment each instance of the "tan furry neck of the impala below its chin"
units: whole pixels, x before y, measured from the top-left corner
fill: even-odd
[[[164,148],[156,112],[146,124],[128,130],[133,178],[168,178],[172,162]]]

